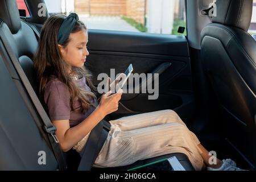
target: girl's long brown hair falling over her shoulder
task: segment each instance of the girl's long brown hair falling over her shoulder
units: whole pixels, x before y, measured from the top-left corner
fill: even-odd
[[[53,15],[46,20],[42,27],[38,49],[33,61],[36,76],[39,80],[39,96],[43,100],[44,88],[52,75],[68,86],[71,96],[71,109],[74,110],[73,101],[78,98],[81,101],[82,111],[85,113],[91,105],[95,107],[90,100],[97,98],[94,94],[96,88],[92,84],[92,75],[85,67],[72,68],[71,74],[68,73],[69,66],[63,61],[60,49],[57,46],[57,32],[65,17],[64,15]],[[80,20],[77,20],[71,33],[82,30],[87,31],[86,26]],[[69,39],[66,40],[61,46],[65,48],[69,41]],[[79,88],[73,81],[72,76],[85,77],[92,92]]]

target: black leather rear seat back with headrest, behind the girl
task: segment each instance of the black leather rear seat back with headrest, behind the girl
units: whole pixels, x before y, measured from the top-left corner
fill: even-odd
[[[19,60],[28,80],[36,89],[32,57],[38,47],[34,31],[20,21],[15,0],[0,0],[1,32],[8,46]],[[58,164],[47,134],[43,131],[40,115],[24,89],[10,55],[0,41],[1,59],[1,109],[0,134],[1,170],[56,170]],[[47,165],[39,163],[40,152],[46,154]],[[43,155],[44,155],[43,154]]]

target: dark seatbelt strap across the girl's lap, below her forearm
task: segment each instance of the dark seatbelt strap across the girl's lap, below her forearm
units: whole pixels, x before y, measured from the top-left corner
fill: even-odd
[[[93,163],[108,137],[109,130],[105,127],[104,122],[104,120],[100,121],[90,132],[84,150],[82,151],[78,171],[89,171],[92,168]]]

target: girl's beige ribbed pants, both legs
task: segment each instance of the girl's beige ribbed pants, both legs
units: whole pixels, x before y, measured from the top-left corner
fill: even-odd
[[[126,166],[155,156],[181,152],[196,170],[203,167],[196,135],[173,110],[160,110],[110,121],[111,130],[93,167]]]

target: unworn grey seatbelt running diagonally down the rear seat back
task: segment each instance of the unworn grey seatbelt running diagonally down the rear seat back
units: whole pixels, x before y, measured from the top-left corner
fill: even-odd
[[[2,25],[2,23],[3,23],[3,20],[0,19],[0,26]],[[13,50],[11,49],[11,46],[10,46],[8,40],[6,39],[5,35],[7,35],[5,30],[3,30],[3,28],[0,28],[0,38],[2,39],[2,42],[7,50],[7,53],[10,56],[10,60],[13,63],[14,68],[16,69],[16,71],[20,77],[20,80],[22,80],[23,85],[25,86],[25,88],[28,92],[28,95],[30,96],[33,104],[35,105],[36,110],[38,111],[40,117],[42,118],[42,121],[44,124],[43,129],[48,134],[48,138],[51,143],[53,154],[55,155],[59,169],[65,170],[65,169],[67,169],[67,164],[65,162],[63,152],[61,151],[60,146],[58,144],[59,140],[57,139],[57,136],[55,134],[56,128],[54,125],[52,125],[52,122],[49,120],[46,111],[44,110],[41,102],[39,101],[38,96],[36,96],[34,89],[32,88],[30,82],[28,81],[26,74],[24,73],[21,65],[19,64],[19,60],[15,56]]]

